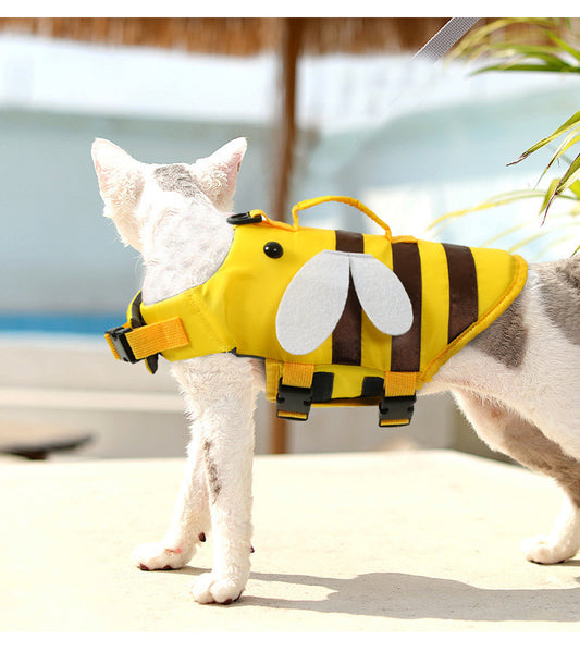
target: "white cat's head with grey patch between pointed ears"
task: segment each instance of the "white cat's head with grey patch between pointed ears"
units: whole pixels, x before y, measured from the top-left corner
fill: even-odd
[[[95,140],[103,213],[123,243],[143,254],[144,297],[147,292],[153,299],[166,296],[160,281],[176,279],[175,288],[201,283],[221,265],[232,239],[224,217],[231,212],[246,147],[246,139],[237,138],[190,164],[150,164],[109,140]]]

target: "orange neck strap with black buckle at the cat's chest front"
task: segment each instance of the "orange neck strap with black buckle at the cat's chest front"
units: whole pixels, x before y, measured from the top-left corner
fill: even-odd
[[[140,293],[128,308],[128,322],[107,330],[104,339],[115,359],[135,364],[145,359],[151,373],[157,371],[159,353],[189,344],[180,317],[147,324],[140,316]]]

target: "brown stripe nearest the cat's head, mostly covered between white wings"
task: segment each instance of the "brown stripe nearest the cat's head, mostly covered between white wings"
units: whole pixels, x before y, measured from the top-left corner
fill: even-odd
[[[349,254],[365,251],[361,233],[335,231],[336,250]],[[362,307],[355,291],[353,275],[348,280],[348,295],[344,311],[332,333],[332,364],[360,366],[362,344]]]

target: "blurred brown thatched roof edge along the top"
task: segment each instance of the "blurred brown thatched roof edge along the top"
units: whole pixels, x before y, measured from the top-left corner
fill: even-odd
[[[286,19],[0,19],[0,30],[110,45],[249,56],[277,50]],[[405,52],[448,19],[291,19],[301,52]]]

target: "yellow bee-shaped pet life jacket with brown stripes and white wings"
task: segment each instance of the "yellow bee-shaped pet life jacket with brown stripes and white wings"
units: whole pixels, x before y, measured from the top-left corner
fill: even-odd
[[[298,211],[351,205],[383,233],[299,226]],[[262,358],[279,417],[311,406],[379,406],[379,425],[407,425],[415,393],[514,302],[520,256],[393,237],[358,200],[326,196],[293,210],[234,214],[230,251],[205,283],[156,304],[138,293],[127,322],[106,333],[118,359],[170,361],[214,353]]]

